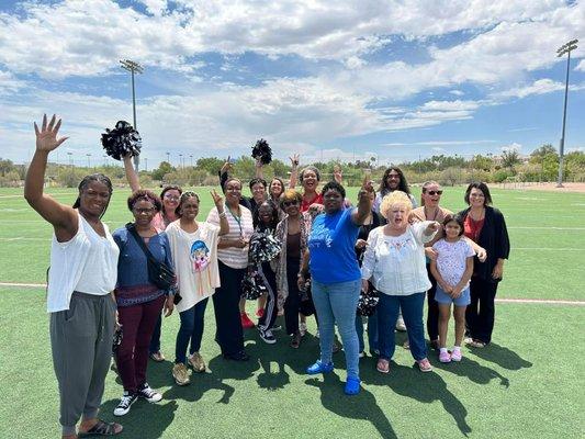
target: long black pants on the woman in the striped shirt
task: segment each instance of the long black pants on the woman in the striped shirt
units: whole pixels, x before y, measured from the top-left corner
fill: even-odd
[[[244,350],[244,330],[239,317],[239,297],[241,296],[241,280],[246,269],[234,269],[218,261],[222,286],[213,294],[215,311],[215,341],[222,353],[234,354]]]

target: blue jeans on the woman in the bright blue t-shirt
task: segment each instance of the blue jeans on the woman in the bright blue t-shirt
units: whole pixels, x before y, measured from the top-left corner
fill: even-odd
[[[312,282],[313,302],[319,320],[320,361],[330,363],[333,357],[335,323],[346,351],[348,378],[359,378],[359,344],[356,334],[356,308],[361,280],[338,283]]]

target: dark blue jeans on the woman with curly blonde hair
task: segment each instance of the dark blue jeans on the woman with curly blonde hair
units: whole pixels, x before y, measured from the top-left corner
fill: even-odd
[[[416,361],[427,358],[425,344],[425,326],[423,325],[423,307],[425,293],[410,295],[387,295],[380,293],[378,304],[378,335],[380,337],[380,358],[390,360],[394,354],[394,329],[402,308],[402,316],[406,325],[406,334],[410,344],[410,353]]]

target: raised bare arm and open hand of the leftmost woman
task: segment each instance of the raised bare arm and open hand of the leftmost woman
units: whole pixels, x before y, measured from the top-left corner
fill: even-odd
[[[47,115],[43,115],[41,130],[38,130],[36,122],[34,123],[36,150],[24,180],[24,198],[31,207],[53,225],[57,239],[66,241],[71,239],[77,233],[77,214],[72,207],[61,204],[43,193],[48,154],[68,138],[57,138],[60,126],[61,121],[60,119],[57,121],[55,114],[48,125]]]

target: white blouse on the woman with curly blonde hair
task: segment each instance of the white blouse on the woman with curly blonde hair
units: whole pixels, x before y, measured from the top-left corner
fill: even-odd
[[[384,226],[370,232],[363,254],[361,278],[389,295],[410,295],[427,291],[431,284],[425,262],[425,243],[435,234],[424,232],[431,222],[409,225],[400,236],[384,235]]]

